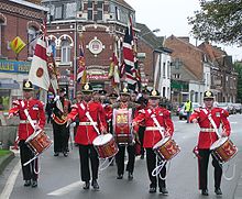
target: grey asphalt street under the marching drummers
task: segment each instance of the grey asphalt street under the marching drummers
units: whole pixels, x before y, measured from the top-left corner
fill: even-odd
[[[232,134],[231,140],[238,146],[239,153],[229,163],[223,166],[223,174],[228,177],[233,176],[233,166],[235,165],[234,177],[230,180],[222,178],[222,198],[233,199],[238,180],[241,176],[242,164],[242,135],[241,123],[242,114],[230,115]],[[79,156],[78,147],[73,146],[68,157],[63,155],[53,156],[53,146],[44,152],[40,158],[41,173],[37,188],[23,186],[22,173],[20,169],[19,157],[16,156],[0,176],[0,199],[9,196],[10,199],[200,199],[218,198],[213,191],[213,167],[209,164],[209,196],[204,197],[198,190],[198,166],[197,158],[193,154],[193,148],[197,143],[199,128],[197,124],[187,124],[185,120],[179,121],[173,117],[175,133],[174,140],[180,146],[180,153],[167,164],[167,189],[168,196],[162,196],[158,192],[148,194],[148,177],[146,172],[145,159],[136,157],[134,168],[134,179],[128,180],[127,174],[123,179],[117,179],[117,167],[109,166],[99,173],[99,191],[92,189],[84,190],[82,181],[79,176]],[[46,132],[52,136],[51,125]],[[14,179],[15,175],[15,179]],[[8,185],[7,185],[8,184]],[[7,185],[7,186],[6,186]],[[12,187],[11,187],[12,186]]]

